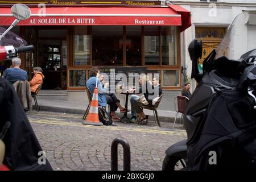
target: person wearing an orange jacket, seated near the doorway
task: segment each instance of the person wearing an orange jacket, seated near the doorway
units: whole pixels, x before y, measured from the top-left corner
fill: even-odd
[[[30,90],[31,92],[36,92],[36,89],[39,88],[40,85],[43,84],[43,69],[40,67],[35,67],[34,68],[34,76],[32,80],[30,81]]]

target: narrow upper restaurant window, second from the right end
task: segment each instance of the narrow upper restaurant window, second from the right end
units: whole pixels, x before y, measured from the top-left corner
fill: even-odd
[[[144,27],[145,65],[159,65],[159,31],[158,26]]]

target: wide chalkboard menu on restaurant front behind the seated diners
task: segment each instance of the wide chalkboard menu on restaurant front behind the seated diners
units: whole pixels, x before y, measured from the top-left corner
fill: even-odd
[[[146,67],[98,67],[104,75],[104,81],[109,82],[109,90],[126,89],[128,86],[139,88],[139,75],[147,74]],[[121,88],[120,88],[121,86]]]

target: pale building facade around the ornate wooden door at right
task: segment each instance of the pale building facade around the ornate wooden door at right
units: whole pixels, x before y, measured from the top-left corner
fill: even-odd
[[[195,39],[196,27],[226,27],[233,22],[238,14],[246,11],[256,11],[255,0],[217,0],[217,2],[201,2],[200,0],[171,1],[191,11],[191,27],[181,33],[181,65],[187,68],[187,77],[190,78],[192,61],[188,54],[188,45]],[[214,4],[213,4],[214,3]],[[251,35],[253,36],[253,35]],[[242,44],[240,48],[244,48]],[[248,47],[251,45],[248,44]],[[196,82],[191,81],[192,90]]]

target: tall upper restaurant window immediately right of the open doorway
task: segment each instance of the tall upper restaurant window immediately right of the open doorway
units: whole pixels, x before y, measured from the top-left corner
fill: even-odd
[[[90,65],[90,38],[88,26],[75,26],[75,65]]]

